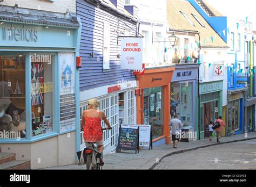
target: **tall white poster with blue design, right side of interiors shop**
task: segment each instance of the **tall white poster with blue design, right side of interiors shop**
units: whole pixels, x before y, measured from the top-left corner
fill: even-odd
[[[60,132],[75,129],[75,56],[59,53]]]

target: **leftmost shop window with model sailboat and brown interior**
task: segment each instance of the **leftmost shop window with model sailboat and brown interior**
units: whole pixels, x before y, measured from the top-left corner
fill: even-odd
[[[0,138],[25,138],[24,55],[0,56],[0,132],[9,132]]]

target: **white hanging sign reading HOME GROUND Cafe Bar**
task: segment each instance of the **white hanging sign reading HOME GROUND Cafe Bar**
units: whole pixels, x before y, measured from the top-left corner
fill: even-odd
[[[142,69],[142,38],[121,39],[121,69]]]

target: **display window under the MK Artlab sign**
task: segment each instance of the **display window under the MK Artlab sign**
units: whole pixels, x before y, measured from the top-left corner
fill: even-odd
[[[173,116],[177,114],[183,126],[193,125],[192,90],[192,82],[171,84],[171,119],[173,119]]]

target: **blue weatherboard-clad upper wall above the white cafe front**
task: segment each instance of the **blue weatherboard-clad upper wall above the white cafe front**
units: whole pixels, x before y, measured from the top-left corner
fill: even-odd
[[[131,70],[120,69],[120,39],[117,32],[124,31],[126,25],[130,35],[136,35],[137,23],[127,21],[121,16],[118,18],[113,13],[95,8],[95,5],[83,0],[77,0],[77,17],[82,21],[82,36],[80,41],[80,56],[82,56],[82,68],[80,68],[80,91],[116,84],[120,80],[136,80]],[[103,70],[103,21],[110,22],[110,70]],[[119,23],[119,25],[118,25]],[[125,23],[125,24],[124,24]],[[91,52],[95,57],[90,57]],[[97,57],[99,60],[97,61]]]

